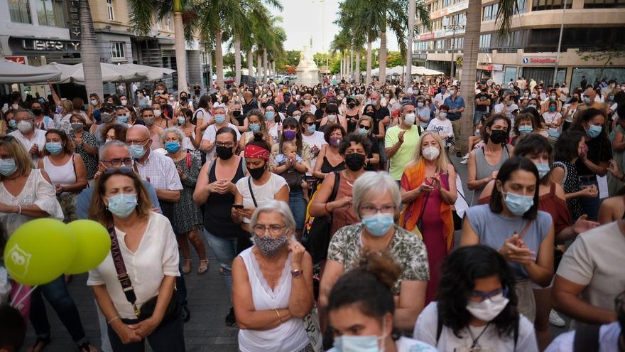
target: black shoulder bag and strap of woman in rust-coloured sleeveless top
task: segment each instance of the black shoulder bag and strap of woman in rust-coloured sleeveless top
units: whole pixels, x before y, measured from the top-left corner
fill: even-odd
[[[335,184],[332,187],[332,194],[327,202],[335,201],[339,193],[339,182],[341,176],[335,171]],[[317,216],[312,220],[310,228],[304,227],[302,243],[312,257],[312,263],[318,264],[327,257],[327,247],[330,245],[330,231],[332,230],[332,215]]]

